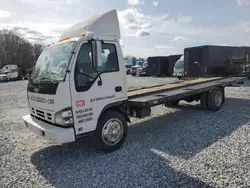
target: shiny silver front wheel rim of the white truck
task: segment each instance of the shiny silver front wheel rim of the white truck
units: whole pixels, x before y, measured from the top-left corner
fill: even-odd
[[[102,140],[107,145],[116,145],[122,138],[123,125],[119,119],[110,119],[102,129]]]

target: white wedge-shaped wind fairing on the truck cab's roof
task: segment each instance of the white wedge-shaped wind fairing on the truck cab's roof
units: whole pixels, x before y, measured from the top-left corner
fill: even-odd
[[[95,36],[107,36],[120,40],[120,27],[116,10],[99,14],[70,27],[64,31],[59,40],[81,37],[88,32],[94,33]]]

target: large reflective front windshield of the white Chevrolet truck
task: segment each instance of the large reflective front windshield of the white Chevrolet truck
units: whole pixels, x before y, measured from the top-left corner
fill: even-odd
[[[44,50],[30,75],[34,82],[64,80],[76,42],[60,44]]]

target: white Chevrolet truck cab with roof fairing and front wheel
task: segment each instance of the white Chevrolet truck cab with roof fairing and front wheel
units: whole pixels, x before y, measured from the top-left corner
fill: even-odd
[[[59,143],[98,129],[99,147],[119,147],[127,123],[120,109],[127,100],[127,79],[119,40],[113,10],[74,25],[43,50],[27,86],[25,125]]]

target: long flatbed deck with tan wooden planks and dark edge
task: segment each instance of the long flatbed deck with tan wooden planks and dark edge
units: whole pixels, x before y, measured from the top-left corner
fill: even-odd
[[[152,107],[197,95],[209,91],[214,87],[226,87],[245,80],[245,77],[200,78],[180,83],[138,89],[128,92],[128,103],[131,107]]]

